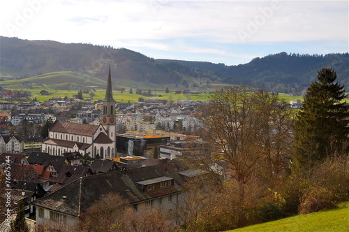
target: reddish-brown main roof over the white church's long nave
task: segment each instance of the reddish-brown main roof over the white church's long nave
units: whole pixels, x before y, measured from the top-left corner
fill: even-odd
[[[71,133],[82,136],[92,136],[98,126],[91,124],[81,124],[74,122],[60,122],[56,120],[51,126],[50,131],[60,133]]]

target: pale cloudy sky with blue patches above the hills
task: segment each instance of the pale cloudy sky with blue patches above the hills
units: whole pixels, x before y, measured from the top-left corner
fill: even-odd
[[[155,59],[238,65],[279,52],[348,52],[348,5],[348,1],[0,1],[0,36],[110,45]]]

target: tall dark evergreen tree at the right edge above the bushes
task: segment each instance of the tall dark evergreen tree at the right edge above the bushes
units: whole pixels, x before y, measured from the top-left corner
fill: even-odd
[[[349,106],[343,85],[336,80],[332,68],[322,68],[318,81],[306,91],[303,109],[295,120],[293,164],[311,168],[327,157],[348,155]]]

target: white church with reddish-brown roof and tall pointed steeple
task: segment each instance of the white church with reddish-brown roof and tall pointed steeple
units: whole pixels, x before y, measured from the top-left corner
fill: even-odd
[[[89,154],[91,158],[99,155],[101,159],[116,157],[116,120],[115,103],[112,97],[112,76],[107,78],[107,90],[103,100],[101,124],[79,124],[55,121],[49,129],[49,136],[43,141],[41,152],[61,156],[66,152]]]

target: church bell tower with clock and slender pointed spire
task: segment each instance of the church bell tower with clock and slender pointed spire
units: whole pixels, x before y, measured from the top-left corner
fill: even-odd
[[[107,79],[107,91],[105,92],[105,99],[103,100],[103,114],[102,125],[107,131],[107,136],[116,145],[116,122],[115,122],[115,104],[116,101],[112,98],[112,75],[110,72],[110,60],[109,60],[109,75]]]

